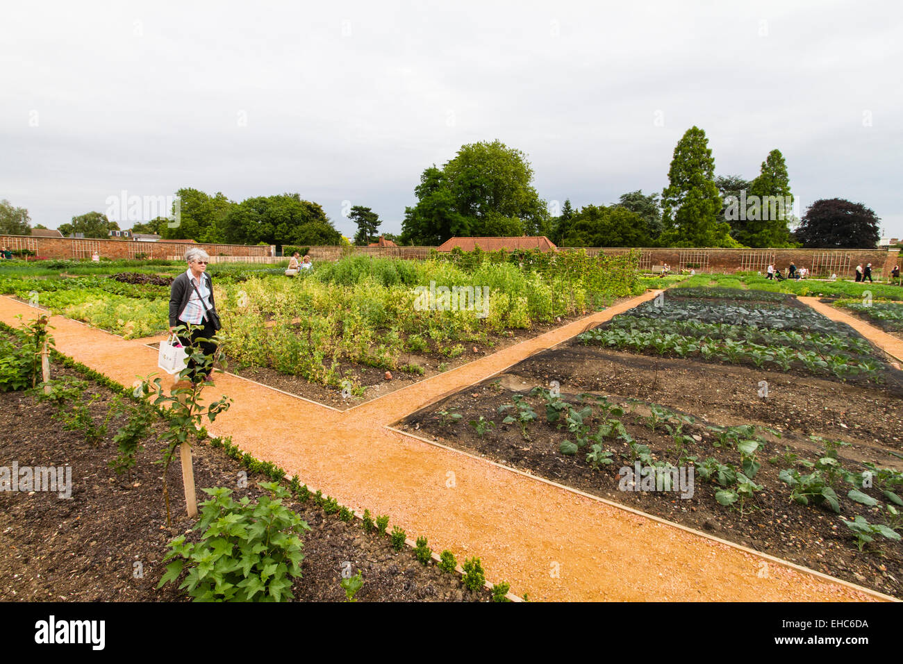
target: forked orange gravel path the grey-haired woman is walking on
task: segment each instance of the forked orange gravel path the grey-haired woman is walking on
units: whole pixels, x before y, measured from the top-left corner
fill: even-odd
[[[534,600],[871,601],[891,599],[579,491],[389,428],[401,416],[506,369],[588,325],[652,298],[647,293],[458,369],[340,412],[219,374],[234,399],[209,426],[258,459],[297,474],[341,504],[388,514],[409,538],[462,562],[480,556],[490,583]],[[34,309],[0,298],[0,320]],[[60,316],[57,348],[123,385],[156,369],[142,340]],[[166,380],[164,379],[164,384]]]

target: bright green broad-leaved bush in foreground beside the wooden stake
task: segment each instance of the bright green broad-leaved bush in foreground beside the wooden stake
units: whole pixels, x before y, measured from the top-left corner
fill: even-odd
[[[181,535],[170,542],[158,588],[178,581],[196,602],[281,602],[292,598],[292,579],[301,577],[302,540],[310,527],[283,505],[289,493],[275,482],[261,482],[270,495],[256,502],[232,500],[228,489],[204,489],[197,544]],[[270,497],[272,496],[272,498]]]

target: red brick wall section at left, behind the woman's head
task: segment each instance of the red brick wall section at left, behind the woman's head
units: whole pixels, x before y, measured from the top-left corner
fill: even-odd
[[[145,254],[148,258],[182,257],[189,247],[202,248],[210,256],[268,256],[269,247],[244,245],[191,244],[186,242],[135,242],[128,239],[70,239],[34,238],[31,236],[0,235],[0,246],[29,248],[47,258],[89,258],[97,251],[104,258],[134,258]]]

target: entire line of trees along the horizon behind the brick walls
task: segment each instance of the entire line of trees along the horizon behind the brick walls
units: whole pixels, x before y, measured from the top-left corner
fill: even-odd
[[[417,202],[405,208],[401,245],[436,246],[448,238],[545,235],[562,247],[874,247],[879,221],[862,203],[815,201],[802,219],[793,215],[794,196],[784,156],[768,153],[759,175],[716,176],[705,132],[688,129],[675,146],[668,185],[658,193],[627,192],[608,205],[580,210],[565,200],[549,210],[533,185],[533,167],[520,150],[498,140],[462,145],[442,168],[424,169],[414,188]],[[163,239],[226,244],[340,245],[346,240],[319,203],[298,193],[229,201],[222,193],[176,192],[180,223],[157,217],[135,223],[138,233]],[[347,212],[358,227],[354,244],[378,238],[376,212],[356,205]],[[172,215],[171,215],[172,217]],[[796,229],[793,227],[796,226]],[[36,227],[37,228],[37,227]],[[62,224],[63,235],[107,238],[115,220],[92,211]],[[0,202],[0,233],[28,234],[27,210]]]

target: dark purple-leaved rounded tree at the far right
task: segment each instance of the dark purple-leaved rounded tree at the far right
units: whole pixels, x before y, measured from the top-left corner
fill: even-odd
[[[880,239],[880,218],[862,203],[840,198],[815,201],[794,236],[805,248],[874,248]]]

